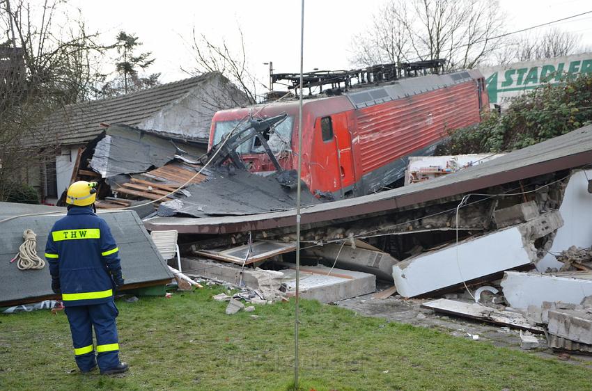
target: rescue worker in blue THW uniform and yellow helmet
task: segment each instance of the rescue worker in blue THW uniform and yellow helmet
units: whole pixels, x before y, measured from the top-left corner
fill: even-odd
[[[82,373],[127,371],[119,360],[114,290],[123,285],[118,248],[107,223],[95,214],[96,182],[68,188],[68,215],[49,232],[45,258],[52,290],[62,295],[70,323],[76,364]],[[93,347],[93,327],[97,339]]]

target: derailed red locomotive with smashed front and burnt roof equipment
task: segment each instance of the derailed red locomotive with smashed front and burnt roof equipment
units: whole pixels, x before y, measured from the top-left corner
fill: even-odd
[[[325,90],[326,96],[307,97],[302,107],[302,179],[313,193],[330,198],[361,196],[394,184],[404,176],[408,156],[433,154],[449,130],[478,123],[489,107],[477,70],[390,81],[384,72],[368,71],[362,77],[354,72],[365,83],[352,86],[352,71],[305,78],[304,87],[334,87]],[[272,76],[295,86],[299,79],[298,74]],[[293,170],[300,150],[297,122],[296,99],[218,111],[210,149],[238,131],[241,136],[232,145],[245,168]]]

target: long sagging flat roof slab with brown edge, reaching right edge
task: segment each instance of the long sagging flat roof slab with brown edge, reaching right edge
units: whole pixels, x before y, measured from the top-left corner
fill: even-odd
[[[397,209],[589,163],[592,163],[592,125],[451,175],[368,196],[306,207],[302,209],[302,223],[317,223]],[[295,224],[295,215],[295,210],[290,209],[284,212],[218,218],[155,217],[144,223],[150,230],[224,233],[286,227]]]

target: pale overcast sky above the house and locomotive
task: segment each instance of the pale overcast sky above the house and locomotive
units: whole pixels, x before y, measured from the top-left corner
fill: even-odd
[[[304,71],[352,68],[351,37],[364,31],[383,2],[307,0]],[[104,32],[105,40],[113,40],[120,30],[138,35],[143,50],[156,58],[150,72],[162,72],[162,82],[187,77],[180,67],[192,64],[184,41],[192,39],[193,26],[214,40],[224,37],[237,45],[240,24],[251,69],[263,81],[267,61],[273,61],[276,72],[299,71],[299,0],[74,0],[72,6],[81,8],[91,30]],[[515,31],[592,10],[592,1],[500,0],[499,7],[507,15],[507,31]],[[582,43],[592,47],[592,14],[554,26],[582,34]]]

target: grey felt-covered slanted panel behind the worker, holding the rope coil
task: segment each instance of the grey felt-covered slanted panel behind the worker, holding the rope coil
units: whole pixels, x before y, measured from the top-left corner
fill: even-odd
[[[15,211],[20,214],[20,210],[29,209],[29,205],[12,207],[6,204],[0,203],[1,216],[15,215]],[[43,212],[38,206],[33,209],[28,213]],[[52,209],[48,212],[52,212]],[[100,216],[107,221],[116,239],[126,285],[173,277],[135,212],[109,212]],[[59,218],[61,216],[28,216],[0,223],[0,305],[6,305],[6,302],[30,302],[53,294],[47,264],[40,270],[20,271],[16,263],[10,263],[10,260],[22,244],[22,233],[29,228],[37,234],[37,253],[42,257],[49,230]]]

